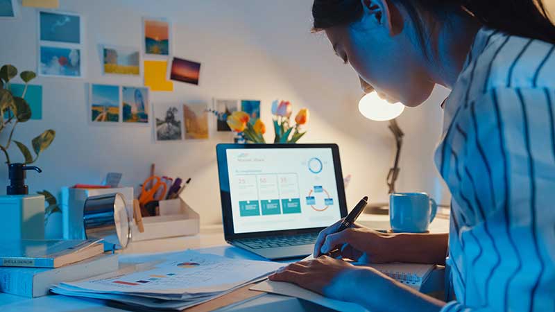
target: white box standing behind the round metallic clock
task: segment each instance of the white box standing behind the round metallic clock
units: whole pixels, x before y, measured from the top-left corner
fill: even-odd
[[[83,207],[85,200],[91,196],[121,193],[126,201],[129,220],[133,222],[133,187],[117,187],[114,189],[74,189],[62,187],[62,209],[64,239],[85,239],[83,227]]]

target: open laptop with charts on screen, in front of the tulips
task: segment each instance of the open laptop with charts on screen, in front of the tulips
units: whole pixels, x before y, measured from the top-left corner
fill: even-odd
[[[347,216],[336,144],[216,146],[225,241],[260,256],[306,257]]]

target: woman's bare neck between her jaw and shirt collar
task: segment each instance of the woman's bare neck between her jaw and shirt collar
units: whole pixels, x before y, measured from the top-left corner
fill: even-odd
[[[481,24],[472,17],[456,14],[443,23],[433,38],[438,47],[438,54],[430,62],[431,76],[435,83],[453,88],[480,28]]]

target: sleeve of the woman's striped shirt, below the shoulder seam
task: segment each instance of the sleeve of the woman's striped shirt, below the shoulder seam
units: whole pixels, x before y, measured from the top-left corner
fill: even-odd
[[[465,296],[442,311],[554,311],[555,92],[497,88],[468,110],[467,244],[481,254],[465,254]]]

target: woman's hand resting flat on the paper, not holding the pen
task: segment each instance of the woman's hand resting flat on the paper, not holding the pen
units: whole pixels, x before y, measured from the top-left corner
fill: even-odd
[[[332,281],[347,270],[361,269],[343,260],[323,256],[314,260],[291,263],[268,278],[271,281],[289,281],[310,291],[329,295],[329,292],[324,293],[325,288],[332,285]],[[337,293],[334,297],[341,299],[341,295]]]

